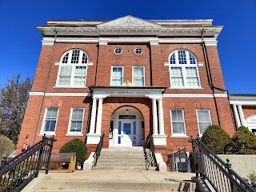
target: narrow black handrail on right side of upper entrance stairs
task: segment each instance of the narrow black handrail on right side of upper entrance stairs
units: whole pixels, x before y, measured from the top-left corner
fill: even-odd
[[[149,135],[146,138],[146,147],[149,149],[149,154],[145,152],[146,154],[146,170],[149,169],[149,166],[158,166],[157,160],[155,158],[154,154],[154,139],[152,135],[149,133]],[[146,150],[146,149],[145,149]]]

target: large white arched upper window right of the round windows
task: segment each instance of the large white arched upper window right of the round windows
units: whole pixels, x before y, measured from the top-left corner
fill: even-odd
[[[189,50],[174,50],[170,54],[170,86],[174,88],[199,88],[198,62]]]

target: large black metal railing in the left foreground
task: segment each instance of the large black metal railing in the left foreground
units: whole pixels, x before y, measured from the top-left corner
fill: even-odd
[[[54,138],[44,135],[40,142],[30,146],[10,160],[4,158],[0,166],[0,192],[21,191],[39,170],[48,174]]]

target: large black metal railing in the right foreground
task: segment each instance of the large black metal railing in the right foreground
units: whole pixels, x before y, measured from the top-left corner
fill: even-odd
[[[200,138],[190,139],[196,176],[206,178],[216,191],[255,191],[231,168],[230,160],[223,162]]]

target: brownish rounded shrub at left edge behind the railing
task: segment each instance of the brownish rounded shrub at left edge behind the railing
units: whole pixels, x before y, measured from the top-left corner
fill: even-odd
[[[10,138],[7,138],[6,136],[0,134],[0,162],[3,156],[6,156],[8,158],[8,156],[12,154],[14,150],[14,142],[12,142]]]

